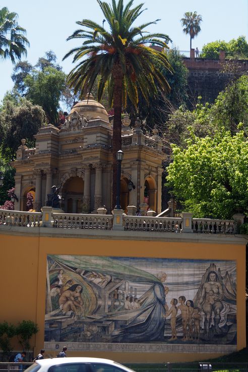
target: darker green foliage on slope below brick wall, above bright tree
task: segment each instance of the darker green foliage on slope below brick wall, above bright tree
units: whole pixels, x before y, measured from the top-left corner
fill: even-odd
[[[189,126],[198,137],[205,137],[212,136],[215,129],[220,130],[221,127],[234,134],[238,131],[240,122],[243,124],[245,135],[248,135],[248,76],[245,75],[231,82],[219,93],[212,105],[198,102],[193,111],[181,105],[169,115],[163,132],[166,143],[171,142],[185,147]]]

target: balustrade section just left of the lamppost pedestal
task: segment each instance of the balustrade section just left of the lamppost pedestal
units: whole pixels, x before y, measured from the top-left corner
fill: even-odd
[[[59,229],[111,230],[113,216],[53,213],[53,227]]]

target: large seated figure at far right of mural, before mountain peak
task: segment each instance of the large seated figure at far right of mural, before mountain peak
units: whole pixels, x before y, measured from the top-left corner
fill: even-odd
[[[219,327],[220,312],[223,308],[223,290],[219,282],[218,275],[214,271],[210,271],[206,283],[202,286],[202,294],[198,306],[205,313],[205,339],[210,339],[210,326],[212,311],[214,311],[214,331],[215,334],[221,334]]]

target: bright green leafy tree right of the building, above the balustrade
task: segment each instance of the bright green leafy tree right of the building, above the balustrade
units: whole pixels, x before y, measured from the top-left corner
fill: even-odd
[[[200,138],[191,132],[187,147],[172,145],[168,186],[184,208],[197,217],[229,219],[241,211],[248,216],[248,146],[240,130],[223,128]]]

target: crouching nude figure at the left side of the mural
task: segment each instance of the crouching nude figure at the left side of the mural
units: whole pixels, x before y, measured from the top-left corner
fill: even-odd
[[[81,293],[83,291],[82,286],[74,284],[69,289],[64,291],[59,297],[58,304],[59,308],[63,311],[73,311],[74,316],[77,309],[83,310],[83,299]]]

